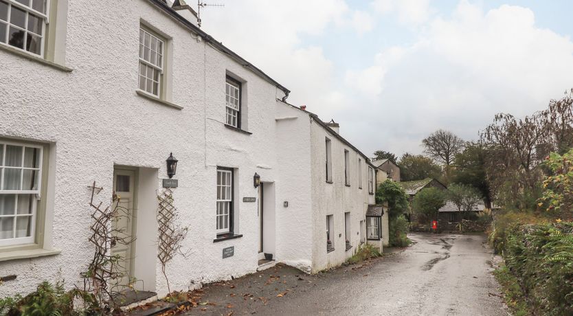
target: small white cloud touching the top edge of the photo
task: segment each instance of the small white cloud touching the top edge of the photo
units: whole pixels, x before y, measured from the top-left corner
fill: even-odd
[[[374,0],[374,10],[381,14],[397,14],[398,21],[405,25],[420,25],[433,13],[429,0]]]

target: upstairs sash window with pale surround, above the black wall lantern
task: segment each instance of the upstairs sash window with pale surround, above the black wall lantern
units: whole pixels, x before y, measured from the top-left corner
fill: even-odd
[[[144,28],[139,29],[139,90],[161,96],[165,41]]]

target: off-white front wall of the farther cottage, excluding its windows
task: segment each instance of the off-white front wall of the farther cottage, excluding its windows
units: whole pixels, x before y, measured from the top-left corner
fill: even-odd
[[[344,125],[341,126],[344,133]],[[326,183],[326,146],[325,140],[331,140],[333,183]],[[350,152],[350,186],[344,179],[344,150]],[[368,193],[368,164],[362,159],[362,189],[359,189],[359,154],[335,137],[333,132],[313,121],[311,124],[311,163],[312,163],[312,201],[313,201],[313,271],[335,267],[352,256],[359,245],[360,221],[366,217],[368,204],[374,203],[374,195]],[[344,213],[350,212],[350,244],[346,251]],[[326,252],[326,216],[333,215],[334,251]],[[341,234],[341,235],[339,235]]]

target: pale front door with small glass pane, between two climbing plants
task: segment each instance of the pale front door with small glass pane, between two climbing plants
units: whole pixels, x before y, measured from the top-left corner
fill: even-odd
[[[135,198],[135,171],[115,169],[113,171],[114,204],[117,205],[117,217],[113,221],[113,234],[126,242],[115,242],[111,247],[113,256],[118,256],[117,271],[122,277],[111,282],[113,292],[126,289],[131,282],[133,271],[133,257],[131,244],[133,242],[133,207]]]

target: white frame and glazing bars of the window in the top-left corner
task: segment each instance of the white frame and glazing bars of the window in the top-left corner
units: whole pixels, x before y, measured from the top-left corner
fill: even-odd
[[[8,16],[7,16],[7,21],[4,21],[2,19],[0,19],[0,23],[6,25],[6,33],[5,33],[5,38],[6,38],[6,43],[0,42],[0,45],[6,45],[8,47],[12,47],[14,49],[18,49],[21,52],[25,52],[27,54],[32,54],[34,56],[41,56],[42,58],[44,58],[44,47],[45,47],[45,38],[46,38],[46,29],[47,29],[47,25],[49,24],[49,7],[50,7],[50,0],[45,0],[44,5],[45,5],[45,13],[43,12],[39,12],[37,10],[34,10],[32,8],[32,6],[28,6],[22,3],[19,3],[15,0],[2,0],[5,3],[8,3]],[[32,0],[30,0],[29,2],[30,4],[32,3]],[[19,8],[23,11],[26,12],[26,17],[25,17],[25,28],[16,26],[14,24],[12,24],[10,22],[10,14],[12,13],[12,7],[16,7]],[[40,17],[43,20],[43,24],[42,24],[42,32],[41,34],[36,34],[32,31],[28,31],[28,18],[30,16],[30,14],[34,14],[38,17]],[[10,41],[9,38],[9,34],[10,34],[10,27],[14,27],[17,30],[21,30],[24,31],[24,43],[23,43],[23,48],[20,47],[16,47],[14,45],[10,45],[8,43],[8,41]],[[40,54],[36,54],[34,52],[30,52],[28,50],[26,50],[26,44],[27,44],[27,33],[30,32],[32,34],[34,34],[34,36],[36,37],[40,37]]]

